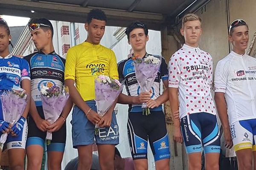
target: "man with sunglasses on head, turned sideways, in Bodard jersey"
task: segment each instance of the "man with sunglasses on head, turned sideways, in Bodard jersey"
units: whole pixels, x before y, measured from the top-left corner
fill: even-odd
[[[41,86],[64,85],[65,59],[55,53],[52,37],[53,28],[49,20],[32,19],[29,31],[38,52],[25,57],[31,72],[31,107],[29,112],[29,132],[26,143],[28,170],[40,170],[45,147],[46,133],[52,132],[52,140],[47,145],[47,167],[61,170],[61,161],[66,143],[66,118],[72,108],[71,99],[65,105],[61,116],[51,125],[44,119],[40,90]]]

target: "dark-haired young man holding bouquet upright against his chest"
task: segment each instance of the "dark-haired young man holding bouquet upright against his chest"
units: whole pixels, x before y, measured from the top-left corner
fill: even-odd
[[[151,54],[146,52],[148,41],[148,28],[140,22],[132,22],[125,31],[128,44],[131,45],[133,56],[139,58],[148,57]],[[160,58],[161,56],[154,55]],[[128,138],[131,147],[131,154],[134,159],[135,169],[148,169],[147,146],[148,140],[154,155],[157,170],[169,170],[170,148],[169,136],[166,130],[165,115],[162,104],[168,100],[168,89],[160,94],[160,81],[168,87],[168,70],[166,61],[161,57],[160,69],[150,92],[141,92],[139,83],[136,80],[134,61],[132,57],[118,63],[120,81],[125,80],[125,87],[128,95],[120,94],[119,103],[129,104],[128,110]],[[150,108],[149,115],[143,115],[142,103],[147,103]]]

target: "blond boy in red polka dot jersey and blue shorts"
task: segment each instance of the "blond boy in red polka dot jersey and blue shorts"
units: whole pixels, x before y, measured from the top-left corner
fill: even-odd
[[[174,140],[184,141],[189,170],[201,169],[202,148],[206,169],[218,170],[220,137],[211,94],[212,57],[198,48],[201,19],[185,15],[180,33],[185,44],[169,61],[170,106],[172,113],[180,111],[180,119],[174,119]]]

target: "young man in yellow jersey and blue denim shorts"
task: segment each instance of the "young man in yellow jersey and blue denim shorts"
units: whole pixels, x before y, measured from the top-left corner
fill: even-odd
[[[75,103],[72,114],[73,147],[78,149],[78,170],[90,170],[94,137],[102,170],[114,169],[115,144],[119,143],[114,105],[103,116],[96,113],[94,79],[104,74],[118,79],[116,57],[112,50],[100,45],[105,32],[106,16],[93,9],[87,16],[87,40],[69,49],[65,66],[65,84]],[[74,85],[76,83],[76,86]],[[99,133],[95,135],[95,124]]]

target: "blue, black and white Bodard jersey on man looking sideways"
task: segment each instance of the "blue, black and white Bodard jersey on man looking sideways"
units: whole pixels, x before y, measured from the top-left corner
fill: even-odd
[[[50,54],[36,52],[25,57],[31,69],[31,96],[36,106],[41,106],[41,87],[64,84],[65,59],[54,51]]]

